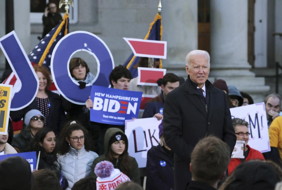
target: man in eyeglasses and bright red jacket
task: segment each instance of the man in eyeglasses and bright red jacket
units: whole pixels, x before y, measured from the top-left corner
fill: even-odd
[[[264,160],[263,155],[256,149],[251,148],[248,144],[249,141],[249,130],[248,130],[248,122],[245,120],[234,118],[232,119],[232,124],[234,127],[234,131],[237,137],[237,141],[245,141],[245,149],[244,149],[244,157],[245,158],[231,158],[230,163],[228,165],[228,174],[230,175],[238,165],[242,162],[248,160]]]

